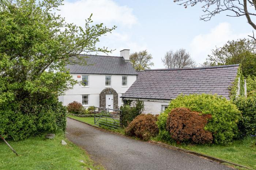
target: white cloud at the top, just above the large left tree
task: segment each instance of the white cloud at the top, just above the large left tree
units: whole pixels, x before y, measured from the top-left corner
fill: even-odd
[[[93,13],[93,21],[107,25],[122,25],[131,27],[137,23],[137,18],[132,13],[132,8],[119,6],[112,0],[79,0],[74,2],[64,1],[58,11],[68,23],[84,26],[84,20]]]

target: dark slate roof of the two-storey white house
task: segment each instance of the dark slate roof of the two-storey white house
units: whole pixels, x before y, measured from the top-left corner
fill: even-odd
[[[82,55],[86,58],[89,66],[78,64],[67,64],[66,69],[71,74],[111,74],[111,75],[138,75],[132,67],[131,62],[123,57],[102,56],[102,55]]]

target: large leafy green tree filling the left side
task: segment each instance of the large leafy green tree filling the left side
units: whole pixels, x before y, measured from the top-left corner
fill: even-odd
[[[60,104],[58,95],[77,83],[65,65],[86,64],[78,56],[82,52],[110,52],[96,44],[100,36],[116,27],[93,25],[91,16],[84,28],[66,23],[53,12],[60,5],[62,0],[0,0],[0,127],[5,128],[7,123],[8,128],[12,121],[18,130],[27,129],[25,137],[36,131],[30,127],[37,125],[34,121],[54,112],[55,104]],[[40,107],[44,110],[35,113]],[[34,116],[38,119],[32,119]],[[21,122],[23,118],[27,123]],[[43,124],[54,118],[46,116]],[[0,128],[0,134],[13,137],[13,129]],[[16,139],[20,138],[23,136]]]

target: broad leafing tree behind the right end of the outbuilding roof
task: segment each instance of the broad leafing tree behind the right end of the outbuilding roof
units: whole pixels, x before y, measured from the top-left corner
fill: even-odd
[[[206,63],[211,66],[240,64],[245,77],[256,75],[256,42],[247,39],[227,41],[223,47],[212,50]]]

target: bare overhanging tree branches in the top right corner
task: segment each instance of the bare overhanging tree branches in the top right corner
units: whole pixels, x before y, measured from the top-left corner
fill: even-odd
[[[179,2],[179,5],[184,5],[185,8],[189,5],[193,7],[202,3],[202,9],[205,14],[200,17],[200,20],[204,21],[211,20],[212,17],[219,13],[226,13],[226,16],[230,17],[245,16],[247,22],[256,30],[256,24],[252,21],[252,17],[256,16],[255,0],[174,0],[174,2]],[[254,33],[249,37],[256,40]]]

